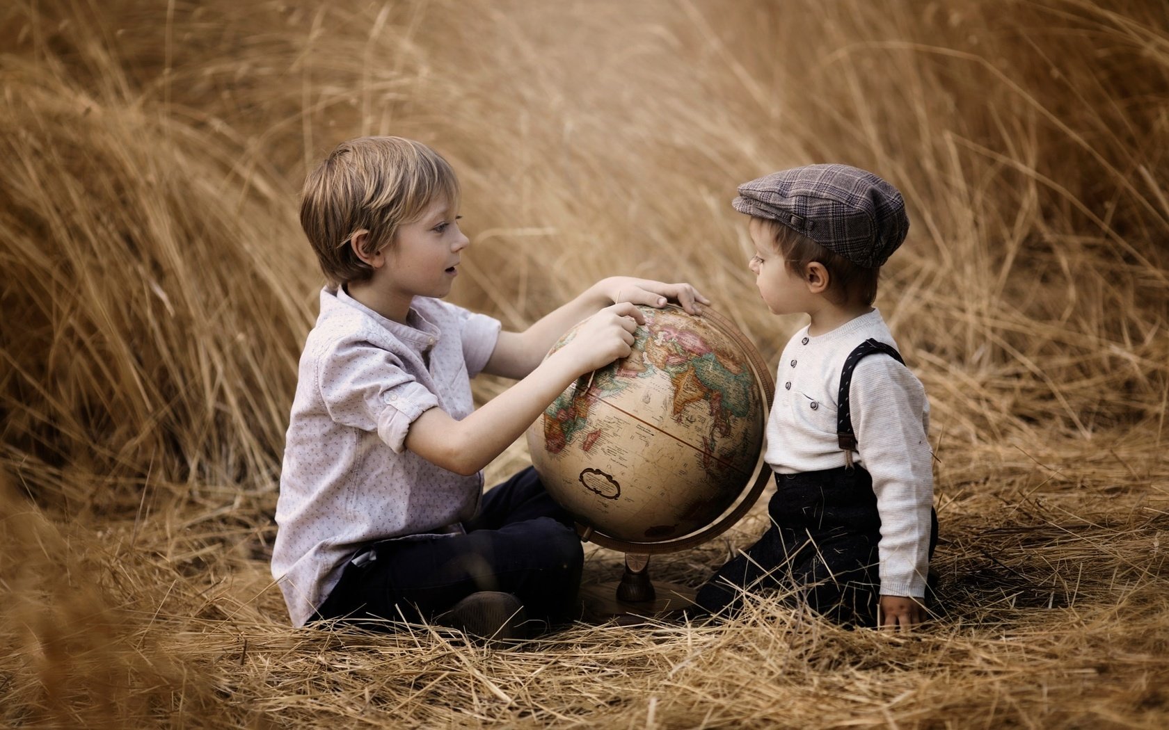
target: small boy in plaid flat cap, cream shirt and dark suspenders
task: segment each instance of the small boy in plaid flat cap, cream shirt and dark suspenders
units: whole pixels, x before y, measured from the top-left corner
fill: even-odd
[[[740,186],[732,204],[750,216],[763,303],[811,321],[783,349],[767,424],[773,524],[697,603],[717,612],[745,589],[787,589],[842,624],[908,628],[925,618],[938,540],[929,402],[872,307],[909,227],[901,194],[810,165]]]

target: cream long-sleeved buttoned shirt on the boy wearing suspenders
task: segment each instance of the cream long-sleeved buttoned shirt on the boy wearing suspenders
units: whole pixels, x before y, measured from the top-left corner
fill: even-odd
[[[836,399],[844,360],[867,339],[897,347],[873,310],[819,336],[797,332],[780,359],[767,423],[766,461],[781,474],[844,466],[836,436]],[[860,360],[852,375],[852,458],[873,480],[880,514],[880,592],[926,593],[929,568],[933,452],[929,401],[908,368],[885,354]]]

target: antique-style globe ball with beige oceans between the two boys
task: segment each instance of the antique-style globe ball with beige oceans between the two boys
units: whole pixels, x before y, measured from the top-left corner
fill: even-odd
[[[758,499],[773,385],[759,352],[712,310],[639,308],[632,353],[569,385],[527,444],[582,536],[665,552],[710,540]]]

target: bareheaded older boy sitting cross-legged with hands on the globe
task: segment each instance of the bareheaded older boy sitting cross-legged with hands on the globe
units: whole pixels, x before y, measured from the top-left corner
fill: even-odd
[[[707,304],[689,284],[614,277],[500,332],[442,301],[470,243],[458,203],[447,161],[396,137],[345,142],[305,181],[300,223],[328,285],[300,357],[272,549],[297,626],[429,619],[517,639],[526,617],[573,618],[570,517],[531,467],[486,494],[482,470],[569,383],[630,353],[635,305]],[[519,383],[475,410],[480,371]]]

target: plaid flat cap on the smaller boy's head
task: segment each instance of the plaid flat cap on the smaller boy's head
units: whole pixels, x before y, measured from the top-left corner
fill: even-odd
[[[864,269],[876,269],[905,241],[901,194],[848,165],[807,165],[739,186],[732,202],[747,215],[779,221]]]

